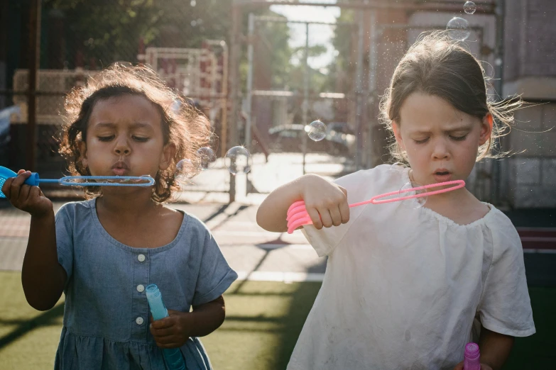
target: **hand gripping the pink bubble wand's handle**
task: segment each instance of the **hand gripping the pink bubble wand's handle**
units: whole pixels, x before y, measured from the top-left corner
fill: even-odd
[[[308,175],[303,181],[303,201],[317,229],[339,226],[349,221],[347,190],[320,176]]]

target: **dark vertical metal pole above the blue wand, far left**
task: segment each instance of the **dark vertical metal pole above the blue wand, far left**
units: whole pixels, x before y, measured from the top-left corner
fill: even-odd
[[[35,171],[36,135],[36,90],[37,70],[40,66],[40,0],[31,1],[29,16],[29,89],[27,103],[27,170]]]

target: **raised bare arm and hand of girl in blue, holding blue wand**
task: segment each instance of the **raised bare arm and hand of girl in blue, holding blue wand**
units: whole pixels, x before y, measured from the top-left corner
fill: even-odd
[[[23,184],[31,172],[21,169],[7,179],[2,192],[14,207],[31,214],[31,228],[21,283],[27,302],[36,310],[53,308],[64,290],[66,272],[58,263],[54,210],[38,186]]]

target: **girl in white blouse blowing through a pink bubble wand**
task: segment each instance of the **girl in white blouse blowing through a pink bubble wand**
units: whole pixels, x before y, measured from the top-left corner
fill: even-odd
[[[288,230],[289,206],[305,201],[312,225],[303,232],[328,257],[288,370],[461,370],[471,341],[481,369],[497,370],[513,337],[535,332],[520,238],[493,205],[461,188],[420,208],[416,198],[348,206],[410,181],[467,179],[494,155],[519,105],[489,101],[479,61],[432,33],[400,60],[381,106],[393,157],[408,165],[332,184],[307,174],[266,198],[257,222],[276,232]]]

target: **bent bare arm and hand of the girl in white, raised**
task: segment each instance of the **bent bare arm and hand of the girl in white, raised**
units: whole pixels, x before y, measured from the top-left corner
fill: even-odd
[[[300,200],[305,201],[307,213],[317,229],[349,221],[346,189],[315,174],[307,174],[280,186],[266,197],[258,207],[258,225],[268,231],[287,231],[288,208]]]

